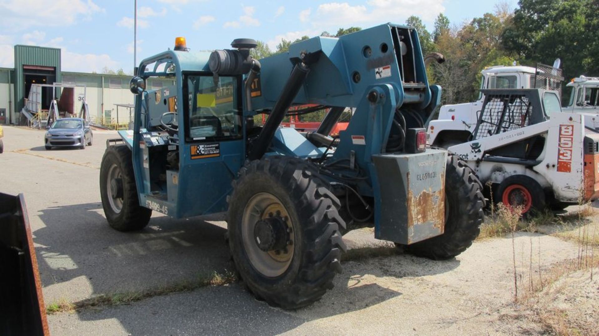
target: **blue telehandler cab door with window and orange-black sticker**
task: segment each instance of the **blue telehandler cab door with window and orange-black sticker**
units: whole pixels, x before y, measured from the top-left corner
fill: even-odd
[[[183,74],[184,141],[180,144],[179,215],[227,209],[245,157],[241,77]]]

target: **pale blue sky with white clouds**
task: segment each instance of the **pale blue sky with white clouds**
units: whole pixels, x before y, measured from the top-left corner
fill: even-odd
[[[499,0],[138,0],[138,58],[172,48],[185,36],[192,50],[228,48],[254,38],[271,48],[281,38],[323,30],[404,23],[419,16],[426,27],[438,13],[459,25],[493,12]],[[505,2],[505,1],[503,1]],[[507,1],[510,7],[516,1]],[[13,66],[13,45],[62,48],[64,71],[133,68],[133,0],[0,0],[0,67]]]

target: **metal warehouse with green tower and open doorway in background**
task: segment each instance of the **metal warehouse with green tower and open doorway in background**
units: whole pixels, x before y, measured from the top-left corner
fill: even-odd
[[[120,108],[117,118],[115,104],[134,102],[129,80],[130,76],[62,71],[59,48],[15,45],[14,69],[0,68],[0,124],[23,123],[20,111],[29,96],[31,84],[53,83],[77,85],[75,96],[86,100],[92,121],[128,123],[127,109]],[[149,81],[148,86],[154,88],[164,84]],[[48,109],[53,99],[52,87],[44,87],[41,94],[41,109]],[[59,98],[58,93],[55,98]]]

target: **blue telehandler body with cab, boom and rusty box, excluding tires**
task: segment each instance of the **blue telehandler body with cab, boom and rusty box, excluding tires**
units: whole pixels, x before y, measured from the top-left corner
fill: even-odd
[[[247,74],[227,63],[252,47],[236,41],[238,51],[170,50],[140,63],[131,83],[134,129],[119,133],[132,150],[141,206],[175,218],[222,212],[244,161],[290,155],[372,199],[377,238],[413,243],[443,233],[443,211],[419,213],[443,210],[446,152],[423,144],[441,89],[428,84],[416,30],[386,24],[318,36],[259,63],[243,60]],[[151,77],[173,85],[150,88]],[[279,127],[292,105],[303,104],[355,111],[338,140],[323,143],[340,113],[325,118],[324,136]],[[261,112],[269,114],[265,126],[253,128],[249,120]]]

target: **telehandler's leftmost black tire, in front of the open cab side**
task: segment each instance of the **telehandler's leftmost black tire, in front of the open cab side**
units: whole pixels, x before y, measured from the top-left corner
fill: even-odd
[[[111,180],[120,183],[111,184]],[[113,197],[115,188],[122,197]],[[108,146],[100,166],[100,195],[108,224],[118,231],[141,230],[150,221],[152,210],[140,206],[135,187],[131,150],[126,145]]]

